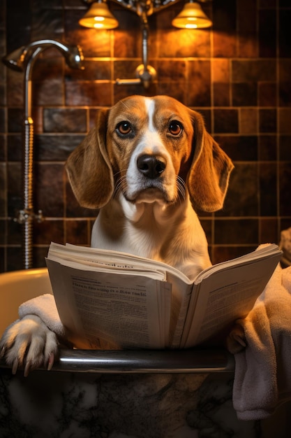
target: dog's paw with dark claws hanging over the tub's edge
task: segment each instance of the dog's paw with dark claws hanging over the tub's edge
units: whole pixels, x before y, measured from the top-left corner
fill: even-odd
[[[56,334],[35,315],[24,316],[6,328],[0,341],[0,357],[5,357],[13,374],[24,367],[24,376],[31,369],[51,369],[58,352]]]

